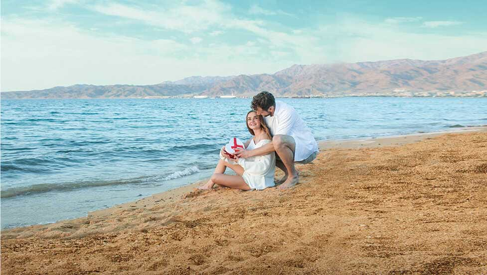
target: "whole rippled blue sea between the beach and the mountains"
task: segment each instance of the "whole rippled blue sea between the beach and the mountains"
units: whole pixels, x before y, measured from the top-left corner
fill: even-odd
[[[487,124],[487,98],[278,99],[315,138]],[[251,99],[2,100],[1,228],[55,222],[192,183],[250,138]]]

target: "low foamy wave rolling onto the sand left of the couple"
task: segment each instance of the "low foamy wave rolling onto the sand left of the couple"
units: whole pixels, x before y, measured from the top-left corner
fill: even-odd
[[[77,181],[77,182],[65,182],[65,183],[41,183],[34,184],[24,187],[12,187],[5,190],[1,190],[0,198],[9,198],[14,196],[35,194],[35,193],[45,193],[52,191],[70,191],[80,188],[88,187],[101,187],[109,185],[143,185],[148,183],[155,183],[160,181],[166,181],[176,178],[181,178],[184,176],[189,176],[191,174],[200,172],[201,170],[196,166],[187,167],[181,171],[176,171],[165,175],[155,175],[155,176],[143,176],[137,178],[129,179],[117,179],[117,180],[90,180],[90,181]]]

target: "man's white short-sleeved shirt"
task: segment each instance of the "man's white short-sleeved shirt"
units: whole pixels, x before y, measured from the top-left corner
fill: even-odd
[[[294,161],[306,159],[312,153],[318,152],[316,139],[293,107],[282,101],[276,101],[274,116],[269,115],[264,119],[273,137],[287,135],[294,138],[296,142]]]

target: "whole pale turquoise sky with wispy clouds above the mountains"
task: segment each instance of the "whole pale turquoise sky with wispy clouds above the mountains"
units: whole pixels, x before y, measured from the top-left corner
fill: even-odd
[[[0,90],[487,50],[487,1],[2,0]]]

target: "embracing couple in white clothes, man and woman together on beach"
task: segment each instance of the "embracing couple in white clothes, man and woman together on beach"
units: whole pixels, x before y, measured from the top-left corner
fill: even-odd
[[[277,182],[279,188],[286,189],[298,183],[294,164],[310,163],[316,158],[318,144],[293,107],[276,102],[269,92],[261,92],[252,99],[251,108],[246,122],[253,137],[233,157],[222,148],[215,172],[200,189],[210,190],[214,184],[241,190],[272,187],[276,166],[285,173]],[[237,175],[225,175],[226,167]]]

